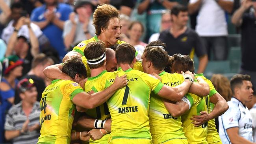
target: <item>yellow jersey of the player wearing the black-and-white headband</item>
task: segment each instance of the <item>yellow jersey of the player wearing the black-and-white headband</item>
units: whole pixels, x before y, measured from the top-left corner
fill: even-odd
[[[95,87],[102,87],[101,90],[104,90],[114,82],[114,79],[115,79],[115,73],[107,72],[106,70],[103,70],[98,76],[87,79],[84,85],[84,90],[85,92],[90,92],[91,90],[98,92],[98,90],[96,90]],[[85,113],[91,116],[92,118],[100,119],[100,120],[107,120],[111,117],[108,110],[108,105],[106,102],[96,107],[95,109],[88,109]],[[101,139],[95,140],[95,141],[90,139],[90,144],[94,144],[94,143],[108,144],[109,136],[110,134],[106,134]]]

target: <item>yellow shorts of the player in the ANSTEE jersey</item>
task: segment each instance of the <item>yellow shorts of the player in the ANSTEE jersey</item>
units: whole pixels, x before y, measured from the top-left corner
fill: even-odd
[[[109,137],[108,144],[152,144],[149,138],[114,138]]]

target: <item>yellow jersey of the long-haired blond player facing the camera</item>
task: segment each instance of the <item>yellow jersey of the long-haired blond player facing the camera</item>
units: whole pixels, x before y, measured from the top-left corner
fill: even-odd
[[[82,56],[84,56],[83,54],[83,51],[84,49],[86,48],[86,45],[89,43],[89,42],[96,42],[98,41],[98,37],[95,35],[94,37],[92,37],[91,39],[88,39],[88,40],[85,40],[85,41],[82,41],[80,42],[77,46],[75,46],[73,48],[73,51],[76,51],[78,52],[79,54],[81,54]],[[124,41],[119,41],[117,40],[117,44],[121,44],[121,43],[125,43]]]

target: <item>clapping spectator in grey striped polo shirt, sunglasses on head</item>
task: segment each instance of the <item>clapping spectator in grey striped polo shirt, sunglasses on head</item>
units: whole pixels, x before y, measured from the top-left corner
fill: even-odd
[[[40,136],[41,107],[33,79],[22,79],[17,85],[22,101],[13,105],[6,115],[5,138],[13,144],[36,144]]]

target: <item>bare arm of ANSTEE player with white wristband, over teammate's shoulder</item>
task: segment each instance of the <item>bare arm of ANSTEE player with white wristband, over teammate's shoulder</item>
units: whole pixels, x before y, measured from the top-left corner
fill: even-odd
[[[178,102],[182,100],[182,98],[185,96],[185,94],[188,92],[191,84],[193,83],[194,75],[192,72],[185,72],[184,74],[184,82],[181,85],[178,85],[177,87],[169,87],[164,85],[162,89],[157,93],[158,96],[162,98],[166,98],[168,100],[171,100],[173,102]]]

